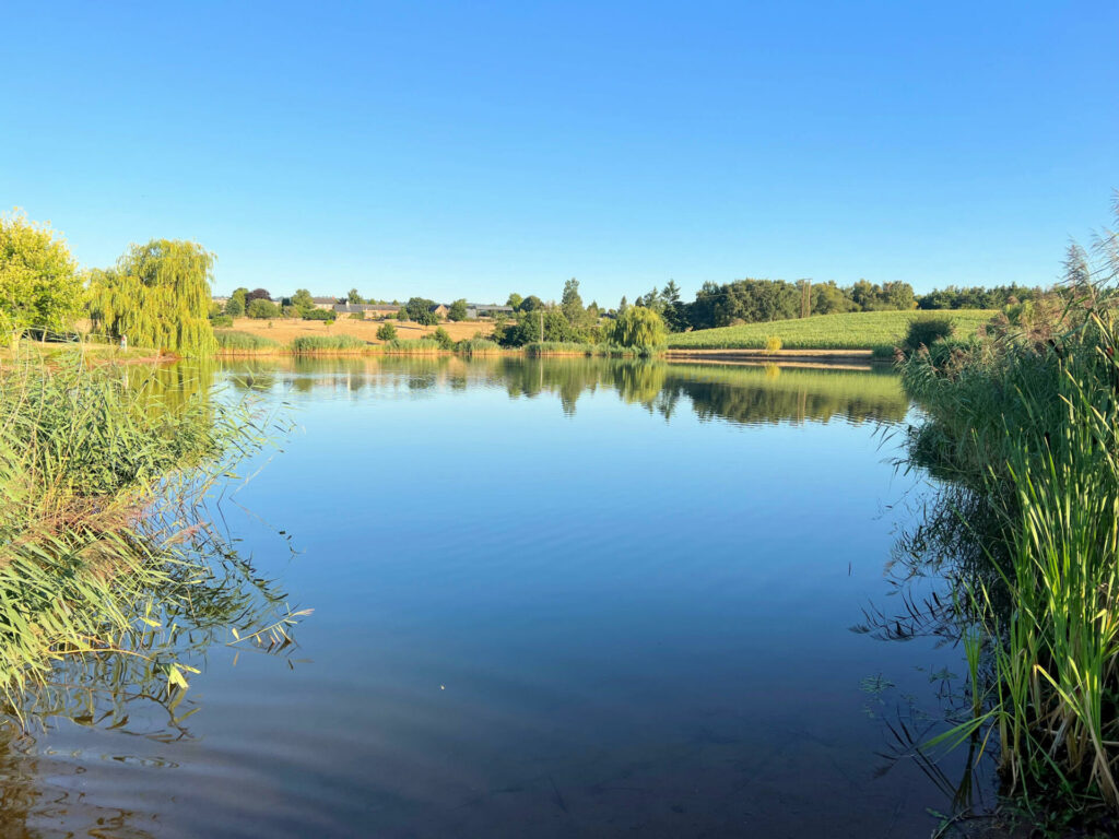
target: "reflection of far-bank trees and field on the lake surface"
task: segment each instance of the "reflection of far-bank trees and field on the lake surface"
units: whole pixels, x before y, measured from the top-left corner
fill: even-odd
[[[291,358],[222,362],[236,387],[358,397],[386,390],[421,395],[471,386],[504,389],[510,398],[555,396],[573,416],[579,400],[606,389],[628,404],[671,420],[680,406],[703,420],[752,425],[780,422],[899,422],[909,403],[888,369],[799,369],[662,361],[488,357]]]

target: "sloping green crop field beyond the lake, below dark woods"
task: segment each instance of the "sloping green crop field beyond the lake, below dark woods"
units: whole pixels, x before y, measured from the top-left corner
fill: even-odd
[[[783,349],[876,349],[888,351],[905,336],[914,318],[946,315],[956,322],[957,334],[974,334],[995,312],[960,309],[951,312],[850,312],[818,314],[800,320],[745,323],[739,327],[700,329],[668,336],[669,349],[763,349],[769,336],[781,339]]]

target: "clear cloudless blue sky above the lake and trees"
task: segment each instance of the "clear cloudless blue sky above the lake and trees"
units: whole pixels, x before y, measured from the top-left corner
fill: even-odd
[[[1113,0],[19,2],[0,207],[219,292],[1047,283],[1119,187],[1117,47]]]

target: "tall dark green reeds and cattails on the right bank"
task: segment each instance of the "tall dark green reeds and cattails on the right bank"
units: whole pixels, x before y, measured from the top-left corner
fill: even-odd
[[[972,534],[989,573],[959,593],[989,668],[971,669],[972,717],[942,742],[997,746],[1005,790],[1062,818],[1119,812],[1116,235],[1098,252],[1089,268],[1070,251],[1060,299],[902,367],[928,415],[912,461],[967,488],[994,520]]]

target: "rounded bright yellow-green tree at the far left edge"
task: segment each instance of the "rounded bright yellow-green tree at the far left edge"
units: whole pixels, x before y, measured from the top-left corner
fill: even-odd
[[[83,296],[69,249],[49,226],[22,214],[0,216],[0,334],[69,329]]]

